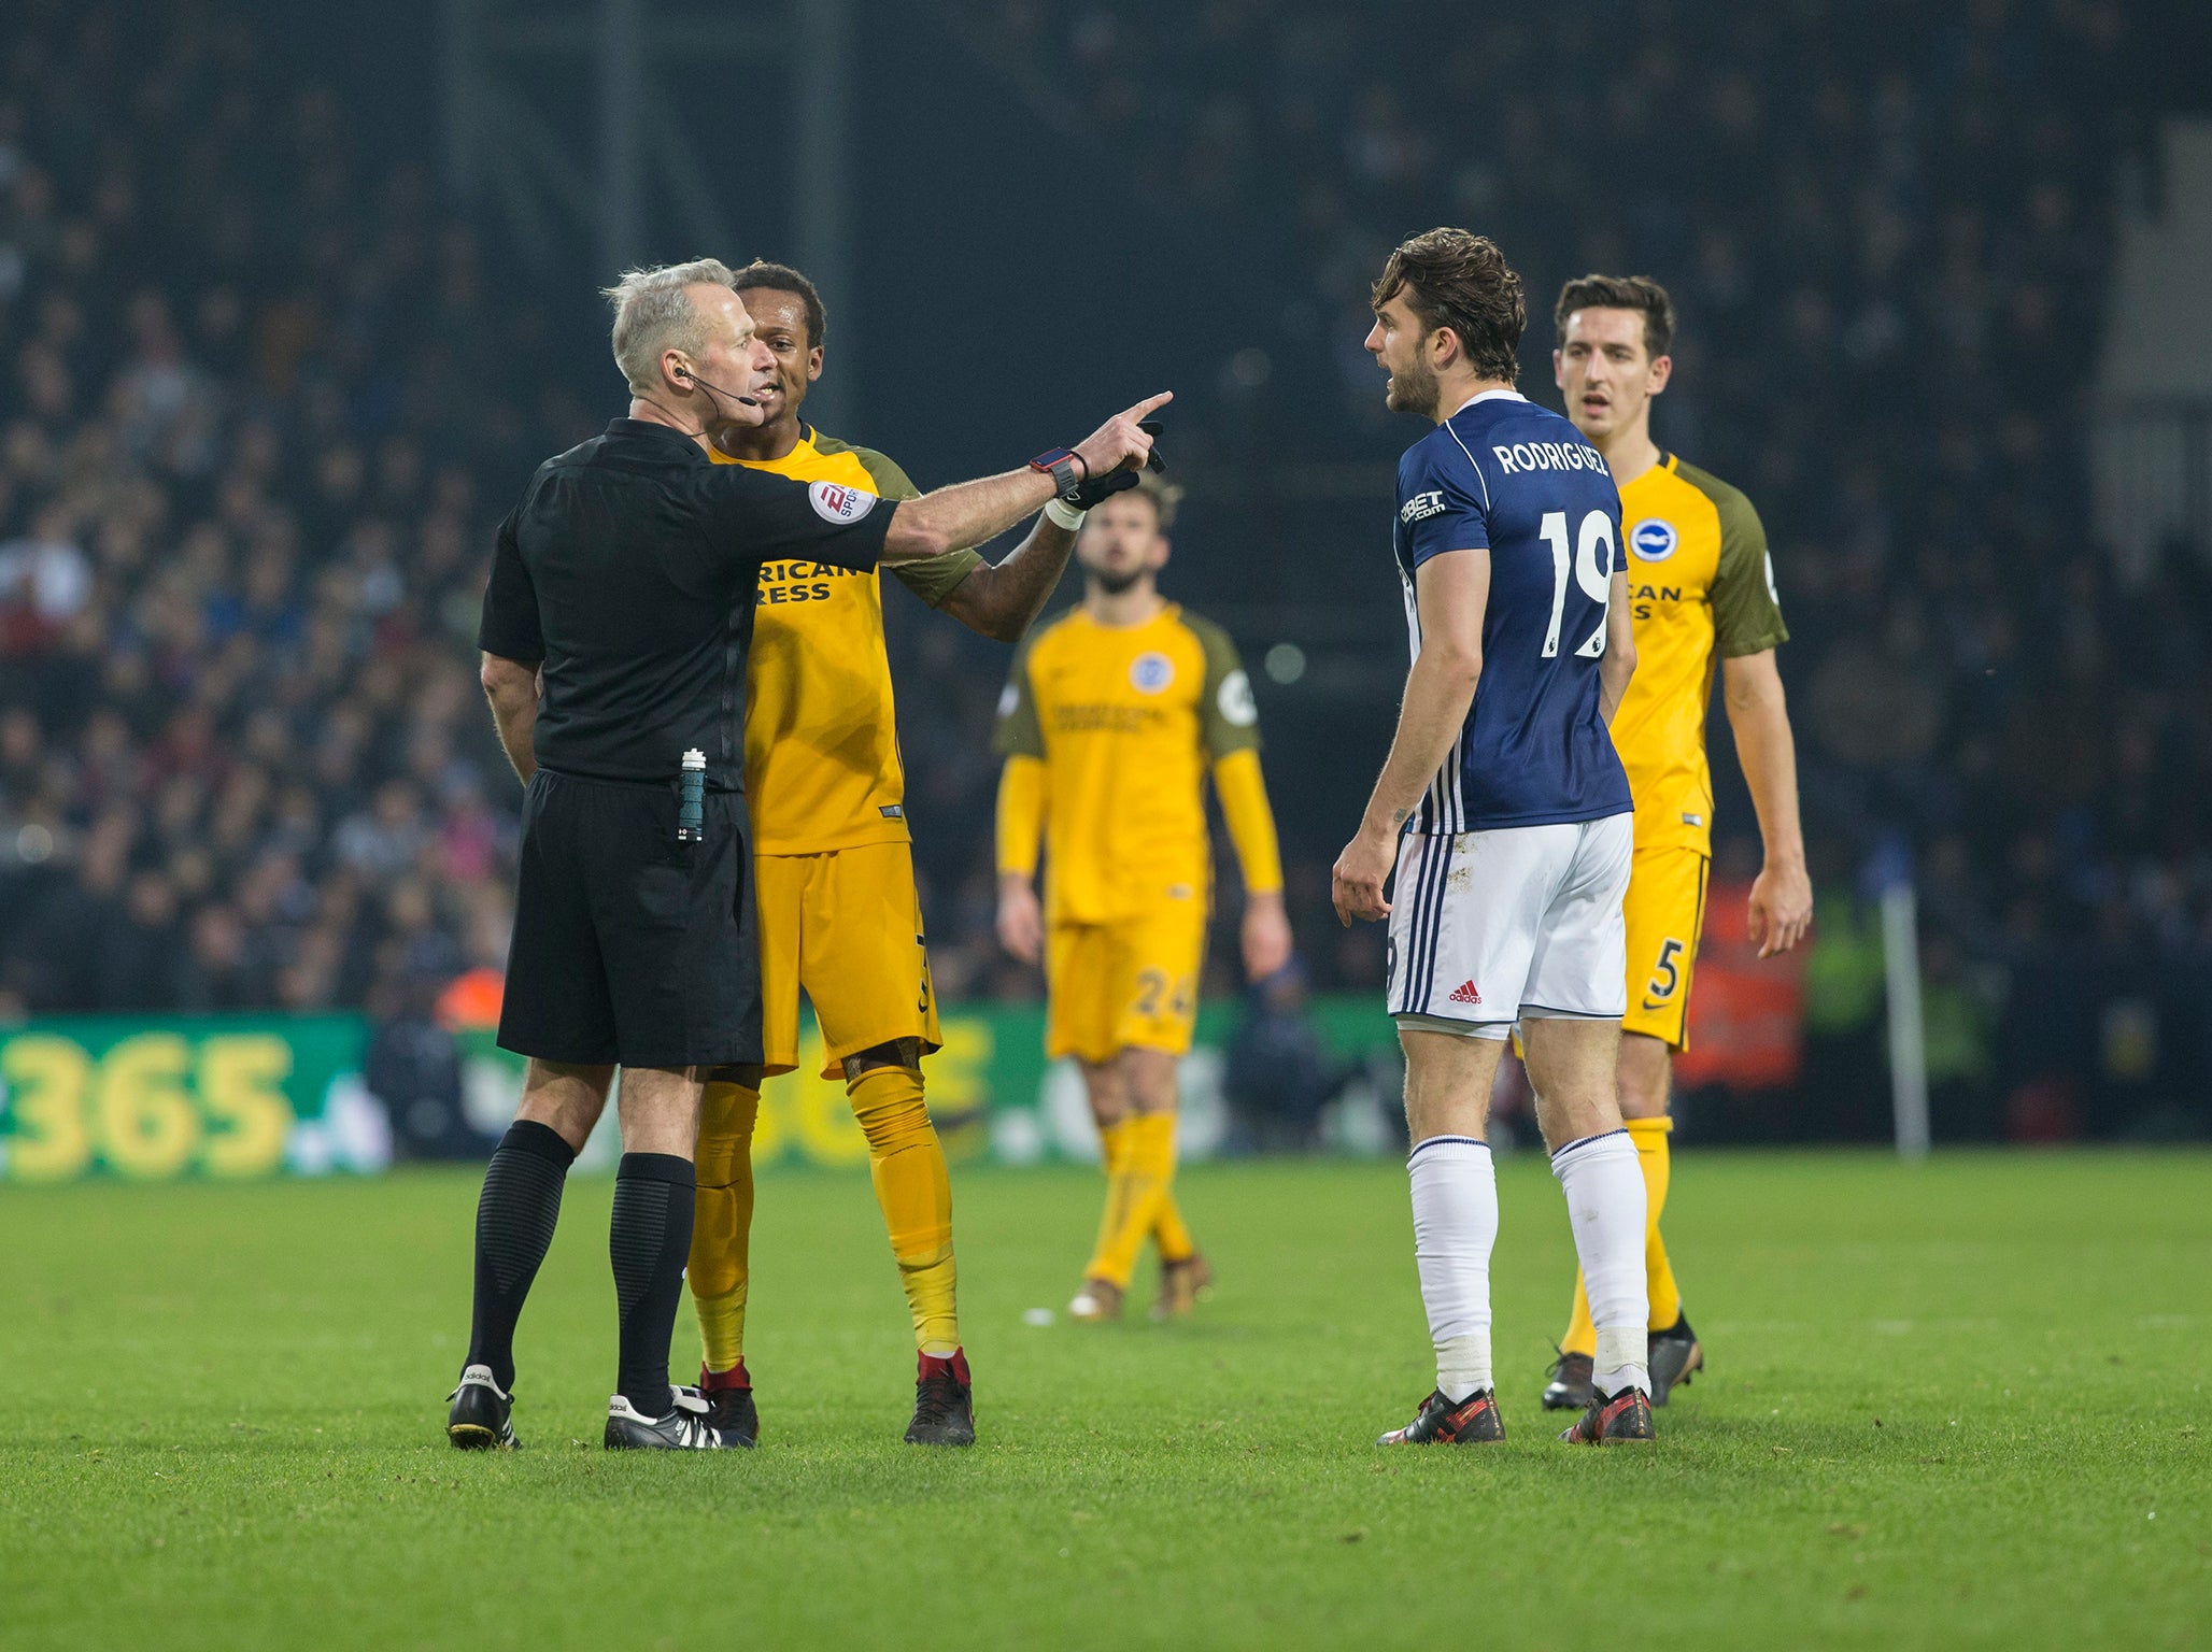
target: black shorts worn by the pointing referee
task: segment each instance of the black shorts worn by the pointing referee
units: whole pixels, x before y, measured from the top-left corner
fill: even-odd
[[[677,843],[677,785],[538,770],[500,1046],[580,1066],[761,1059],[745,798],[708,792],[706,838]]]

